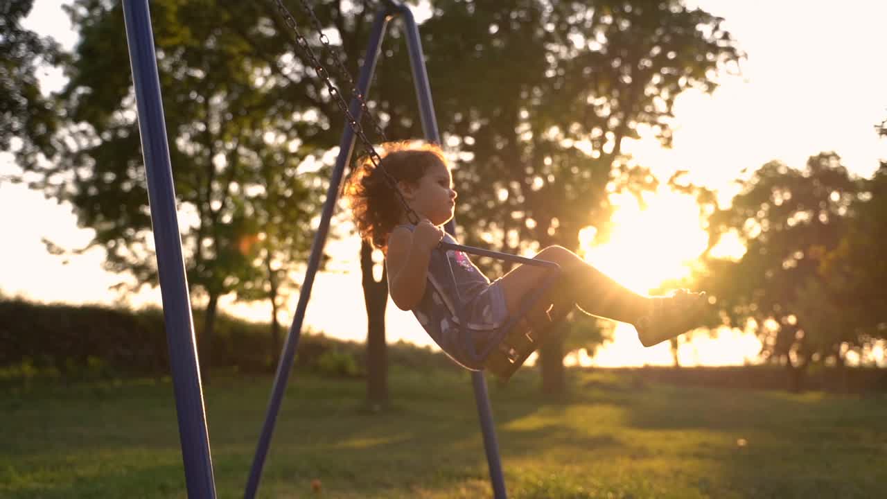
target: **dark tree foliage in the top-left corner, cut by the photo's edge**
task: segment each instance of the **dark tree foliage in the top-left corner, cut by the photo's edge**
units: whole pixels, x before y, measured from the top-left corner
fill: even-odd
[[[0,151],[16,149],[25,156],[50,147],[56,112],[43,96],[37,75],[42,67],[64,59],[51,38],[21,27],[33,6],[34,0],[0,4]]]

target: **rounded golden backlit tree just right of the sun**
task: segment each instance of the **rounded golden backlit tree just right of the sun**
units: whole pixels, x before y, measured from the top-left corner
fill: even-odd
[[[786,366],[797,391],[812,361],[840,358],[848,339],[827,320],[819,268],[844,235],[860,182],[837,154],[820,153],[804,170],[768,162],[740,183],[732,206],[710,218],[710,245],[733,233],[746,252],[735,262],[710,258],[703,287],[728,323],[757,332],[764,358]]]

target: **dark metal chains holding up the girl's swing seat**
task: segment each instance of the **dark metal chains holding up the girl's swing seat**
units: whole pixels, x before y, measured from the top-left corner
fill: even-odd
[[[275,0],[275,3],[277,4],[280,16],[287,23],[287,26],[289,26],[289,28],[293,30],[296,44],[298,44],[299,47],[302,49],[302,53],[309,60],[311,67],[314,68],[314,72],[326,84],[326,89],[327,91],[329,91],[330,97],[334,99],[336,106],[338,106],[341,110],[341,113],[347,117],[348,125],[351,127],[351,130],[354,131],[354,134],[360,139],[361,146],[364,148],[365,153],[370,158],[370,162],[373,162],[373,168],[381,170],[383,178],[385,178],[386,182],[388,182],[389,187],[391,187],[391,189],[395,192],[397,200],[404,207],[404,211],[406,212],[406,216],[409,219],[410,223],[412,223],[413,225],[418,225],[420,221],[419,215],[417,215],[416,212],[412,210],[412,208],[410,208],[410,205],[406,203],[406,200],[404,199],[404,194],[401,193],[400,189],[397,188],[396,178],[394,178],[388,172],[388,170],[381,166],[381,156],[376,152],[375,147],[373,147],[373,143],[366,138],[363,126],[361,126],[354,115],[351,115],[348,104],[345,102],[345,99],[342,98],[339,89],[336,88],[336,86],[334,85],[329,73],[326,71],[326,67],[324,67],[323,64],[320,63],[317,56],[314,54],[314,51],[311,50],[308,40],[305,39],[305,37],[302,36],[302,33],[299,31],[299,28],[295,22],[295,18],[287,10],[287,7],[284,6],[282,0]],[[310,9],[310,6],[307,4],[304,5],[308,9],[308,11],[311,12],[311,16],[317,19],[317,17],[313,15],[313,11]],[[329,47],[330,45],[327,44],[327,46]],[[353,86],[352,90],[354,97],[356,97],[360,101],[361,108],[366,110],[366,114],[369,114],[369,109],[366,108],[366,103],[363,97],[353,88]],[[381,134],[381,138],[385,140],[384,133]]]

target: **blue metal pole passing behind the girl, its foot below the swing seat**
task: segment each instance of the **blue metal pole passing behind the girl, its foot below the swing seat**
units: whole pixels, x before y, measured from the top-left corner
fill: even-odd
[[[419,27],[416,25],[416,20],[412,16],[412,11],[408,6],[401,4],[400,2],[392,3],[396,5],[396,9],[400,11],[401,15],[404,17],[406,44],[410,54],[412,81],[416,87],[416,97],[419,99],[422,131],[425,133],[425,139],[440,144],[440,131],[437,130],[435,107],[431,101],[431,86],[428,84],[428,71],[425,67],[422,43],[419,36]],[[456,234],[455,220],[450,220],[445,228],[448,233]],[[493,423],[490,397],[487,394],[487,382],[483,377],[483,371],[475,371],[471,373],[471,381],[475,387],[477,415],[481,420],[483,448],[486,451],[487,465],[490,468],[493,495],[496,499],[506,499],[505,477],[502,474],[502,462],[499,458],[498,441],[496,440],[496,425]]]

